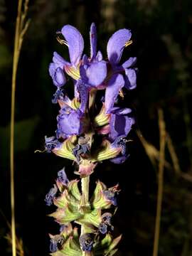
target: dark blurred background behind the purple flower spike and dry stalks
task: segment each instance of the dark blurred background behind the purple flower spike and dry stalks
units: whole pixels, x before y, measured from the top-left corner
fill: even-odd
[[[11,255],[4,238],[10,230],[2,213],[11,220],[9,125],[16,12],[17,1],[0,0],[0,255]],[[133,40],[122,62],[129,56],[138,58],[137,89],[124,97],[136,117],[129,135],[133,140],[129,159],[121,166],[104,161],[92,174],[92,187],[100,178],[107,186],[119,182],[122,189],[114,216],[114,235],[123,233],[117,255],[152,255],[159,107],[169,134],[159,255],[192,255],[192,1],[31,0],[28,17],[31,23],[18,63],[15,131],[16,230],[25,255],[48,255],[48,233],[58,233],[58,225],[46,216],[54,208],[44,202],[57,171],[66,166],[69,178],[76,178],[71,161],[34,154],[36,149],[43,150],[44,136],[52,136],[56,129],[58,107],[51,103],[55,87],[48,65],[54,50],[68,58],[68,48],[59,45],[55,32],[68,23],[77,27],[85,39],[85,53],[89,53],[92,21],[105,58],[107,41],[119,28],[130,28]]]

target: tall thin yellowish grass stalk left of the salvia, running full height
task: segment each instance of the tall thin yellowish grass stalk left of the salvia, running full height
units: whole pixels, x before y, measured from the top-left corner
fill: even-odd
[[[14,41],[14,60],[11,87],[11,131],[10,131],[10,172],[11,172],[11,244],[12,255],[16,256],[16,221],[15,221],[15,195],[14,195],[14,117],[15,117],[15,95],[16,95],[16,73],[18,68],[18,59],[23,43],[23,36],[27,31],[29,21],[26,21],[28,11],[28,0],[24,2],[18,0],[18,12],[16,18],[16,31]]]

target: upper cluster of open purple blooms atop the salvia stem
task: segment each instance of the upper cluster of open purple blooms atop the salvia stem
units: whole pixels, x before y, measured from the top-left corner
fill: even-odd
[[[57,117],[58,129],[54,137],[46,138],[46,149],[58,156],[76,161],[81,176],[90,175],[97,161],[112,159],[116,164],[127,159],[127,135],[134,119],[129,108],[120,108],[118,96],[123,96],[124,88],[136,87],[137,68],[133,68],[136,58],[129,58],[120,64],[122,52],[129,46],[132,33],[120,29],[107,43],[107,60],[97,51],[95,23],[90,27],[90,57],[82,55],[84,48],[80,32],[73,26],[63,26],[57,32],[58,41],[68,47],[70,61],[53,53],[49,73],[57,87],[53,103],[60,105]],[[73,79],[74,98],[70,99],[63,89],[66,76]],[[95,97],[97,90],[103,96]],[[100,108],[100,112],[97,110]],[[100,137],[100,145],[93,144]]]

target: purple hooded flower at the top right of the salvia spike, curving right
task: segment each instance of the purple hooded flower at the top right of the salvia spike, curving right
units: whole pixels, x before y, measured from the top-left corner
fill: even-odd
[[[105,92],[107,113],[109,113],[113,107],[122,87],[126,87],[129,90],[136,87],[137,69],[131,67],[136,63],[137,58],[131,57],[122,65],[119,65],[124,47],[129,46],[129,44],[132,43],[132,41],[130,41],[131,36],[132,33],[128,29],[120,29],[111,36],[107,43],[107,55],[112,69],[112,76]]]

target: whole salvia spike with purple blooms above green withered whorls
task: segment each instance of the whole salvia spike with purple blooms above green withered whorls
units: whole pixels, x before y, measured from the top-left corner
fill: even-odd
[[[97,51],[95,23],[90,27],[89,57],[82,55],[84,41],[73,26],[63,26],[57,36],[59,43],[68,47],[70,61],[54,52],[49,65],[57,87],[52,102],[60,110],[55,136],[45,138],[45,147],[49,153],[72,160],[79,180],[69,181],[63,168],[46,195],[46,204],[56,206],[50,216],[60,225],[60,233],[50,235],[50,255],[112,256],[121,239],[121,235],[112,238],[119,186],[107,188],[97,181],[90,196],[89,181],[101,161],[122,164],[128,157],[127,135],[134,118],[129,108],[118,107],[117,98],[123,97],[124,88],[136,87],[136,58],[120,61],[124,48],[132,43],[132,33],[124,28],[112,35],[107,60]],[[74,83],[73,99],[63,89],[67,78]]]

